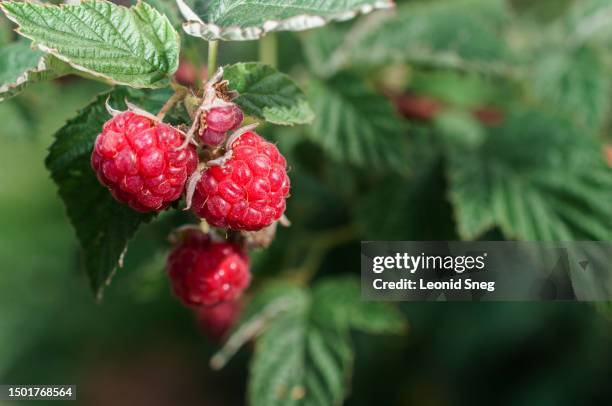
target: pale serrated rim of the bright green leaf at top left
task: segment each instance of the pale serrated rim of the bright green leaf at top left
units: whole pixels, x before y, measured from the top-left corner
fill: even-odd
[[[56,4],[41,4],[41,3],[35,3],[35,4],[39,5],[39,6],[43,6],[43,7],[58,7],[58,8],[62,8],[64,6],[73,5],[73,4],[70,4],[70,3],[63,3],[63,4],[59,4],[59,5],[56,5]],[[113,3],[113,4],[115,6],[117,6],[117,7],[125,7],[125,6],[120,6],[118,4],[115,4],[115,3]],[[141,4],[145,4],[148,7],[151,7],[148,4],[146,4],[146,3],[144,3],[144,2],[139,0],[138,3],[135,6],[129,7],[129,8],[131,9],[131,8],[134,8],[134,7],[138,7]],[[157,11],[155,8],[153,8],[153,7],[151,7],[151,8],[156,13],[160,14],[163,18],[166,18],[166,19],[168,18],[164,14],[160,13],[159,11]],[[88,68],[86,68],[84,66],[81,66],[79,64],[76,64],[76,63],[72,62],[70,60],[70,58],[65,57],[62,54],[60,54],[57,49],[53,49],[53,48],[47,47],[45,45],[39,44],[38,42],[36,42],[36,40],[34,38],[24,34],[21,31],[21,24],[19,24],[19,22],[17,22],[17,20],[14,17],[11,16],[11,14],[5,9],[5,7],[2,4],[2,2],[0,2],[0,9],[2,9],[2,11],[4,12],[4,15],[6,16],[6,18],[11,20],[13,23],[15,23],[18,26],[18,28],[15,29],[15,32],[18,33],[19,35],[21,35],[22,37],[28,38],[29,40],[32,41],[32,48],[38,48],[42,52],[45,52],[45,53],[50,54],[50,55],[53,55],[57,59],[67,63],[72,68],[74,68],[74,69],[76,69],[78,71],[84,72],[84,73],[86,73],[88,75],[91,75],[91,76],[93,76],[95,78],[102,79],[104,82],[106,82],[106,83],[108,83],[110,85],[129,86],[129,87],[133,87],[135,89],[155,89],[155,88],[161,88],[161,87],[167,86],[168,83],[169,83],[168,79],[166,79],[166,80],[160,80],[157,83],[151,84],[151,85],[148,85],[148,86],[145,86],[145,85],[134,85],[133,83],[122,82],[122,81],[118,81],[118,80],[112,79],[110,76],[107,76],[107,75],[105,75],[103,73],[96,72],[94,70],[88,69]],[[179,44],[180,44],[180,36],[179,36],[178,33],[176,34],[176,37],[177,37],[177,41],[179,41]],[[2,99],[0,99],[0,101],[2,101]]]

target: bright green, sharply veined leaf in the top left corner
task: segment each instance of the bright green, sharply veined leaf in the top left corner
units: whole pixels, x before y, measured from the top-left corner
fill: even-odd
[[[34,46],[111,83],[162,87],[178,67],[178,33],[146,3],[126,8],[100,0],[61,7],[5,1],[1,6]]]

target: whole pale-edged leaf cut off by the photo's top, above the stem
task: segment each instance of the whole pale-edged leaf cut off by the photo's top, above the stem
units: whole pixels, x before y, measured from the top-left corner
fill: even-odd
[[[177,0],[189,35],[254,40],[268,32],[302,31],[393,7],[390,0]]]

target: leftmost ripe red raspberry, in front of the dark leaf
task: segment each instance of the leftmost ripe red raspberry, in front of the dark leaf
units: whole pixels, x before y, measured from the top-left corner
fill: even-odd
[[[182,143],[172,126],[124,112],[104,124],[91,166],[118,201],[141,212],[160,210],[181,196],[198,165],[194,146],[177,149]]]

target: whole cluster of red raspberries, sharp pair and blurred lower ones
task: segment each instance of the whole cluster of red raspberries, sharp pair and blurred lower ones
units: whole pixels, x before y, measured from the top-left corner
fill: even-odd
[[[122,112],[104,124],[91,166],[116,200],[139,212],[167,208],[186,194],[188,183],[197,182],[188,202],[196,216],[214,227],[262,230],[285,211],[287,164],[276,146],[255,132],[229,137],[242,120],[233,103],[206,111],[198,154],[179,129],[147,114]],[[223,159],[211,160],[211,151]],[[200,164],[199,155],[208,161]],[[175,295],[196,309],[211,335],[221,336],[251,279],[244,248],[191,230],[170,254],[167,271]]]

